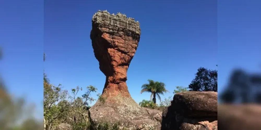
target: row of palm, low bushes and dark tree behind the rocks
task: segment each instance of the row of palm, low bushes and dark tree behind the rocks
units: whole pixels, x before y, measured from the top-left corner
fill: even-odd
[[[217,65],[216,65],[217,66]],[[143,100],[139,103],[141,107],[149,107],[152,109],[166,107],[170,105],[172,96],[161,100],[160,95],[168,92],[163,82],[148,80],[149,83],[141,86],[141,93],[151,93],[150,100]],[[185,91],[214,91],[217,92],[217,70],[210,70],[200,67],[195,74],[195,78],[188,84],[188,87],[177,86],[173,94]],[[159,104],[156,102],[156,97],[159,99]]]

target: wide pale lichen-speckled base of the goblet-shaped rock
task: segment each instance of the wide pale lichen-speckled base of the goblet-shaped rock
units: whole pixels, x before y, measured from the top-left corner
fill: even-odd
[[[128,130],[159,130],[161,124],[152,119],[149,113],[141,108],[131,97],[120,94],[98,100],[89,109],[91,129],[97,130],[98,124],[118,124],[120,129]]]

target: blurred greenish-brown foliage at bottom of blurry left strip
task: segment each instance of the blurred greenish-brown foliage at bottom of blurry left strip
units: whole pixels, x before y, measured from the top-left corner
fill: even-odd
[[[23,98],[8,94],[3,80],[0,79],[0,129],[1,130],[42,130],[43,122],[29,115]]]

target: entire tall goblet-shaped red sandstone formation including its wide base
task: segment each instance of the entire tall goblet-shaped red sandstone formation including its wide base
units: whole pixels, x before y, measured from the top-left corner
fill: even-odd
[[[160,129],[129,94],[127,70],[140,40],[140,24],[133,18],[98,11],[92,18],[90,38],[99,68],[106,76],[101,98],[89,109],[91,129],[118,123],[125,129]]]

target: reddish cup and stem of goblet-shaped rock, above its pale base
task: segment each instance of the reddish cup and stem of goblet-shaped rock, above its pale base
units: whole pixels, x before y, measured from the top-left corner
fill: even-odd
[[[118,13],[98,11],[92,18],[94,55],[106,76],[103,95],[130,97],[126,85],[127,70],[140,41],[140,24]]]

